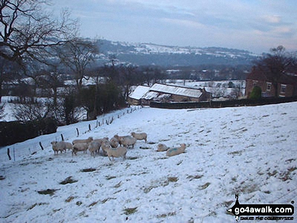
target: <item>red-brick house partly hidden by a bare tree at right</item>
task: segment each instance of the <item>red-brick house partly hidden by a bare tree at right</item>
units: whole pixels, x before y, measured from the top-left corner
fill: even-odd
[[[271,77],[263,72],[252,71],[247,75],[245,95],[249,95],[254,86],[259,86],[262,89],[262,97],[275,97],[276,87],[273,84]],[[292,97],[297,96],[297,76],[282,74],[277,83],[277,97]]]

